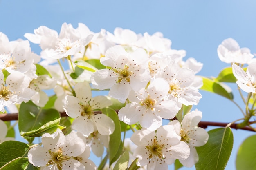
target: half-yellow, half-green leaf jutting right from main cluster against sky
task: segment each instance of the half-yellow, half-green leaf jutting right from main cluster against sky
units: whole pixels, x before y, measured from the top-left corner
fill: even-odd
[[[202,77],[202,79],[203,79],[203,86],[200,88],[201,90],[216,93],[218,95],[226,97],[227,99],[233,100],[233,94],[229,86],[221,82],[214,82],[214,80],[206,77]]]

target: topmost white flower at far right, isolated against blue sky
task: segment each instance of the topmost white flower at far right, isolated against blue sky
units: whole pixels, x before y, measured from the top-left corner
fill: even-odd
[[[248,48],[240,48],[233,38],[223,40],[217,52],[220,60],[225,63],[246,64],[254,57]]]

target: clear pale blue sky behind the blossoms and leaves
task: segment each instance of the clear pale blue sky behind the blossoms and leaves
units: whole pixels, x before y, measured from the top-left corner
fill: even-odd
[[[160,31],[171,39],[172,49],[184,49],[186,58],[194,57],[204,64],[198,75],[216,77],[229,66],[218,59],[217,47],[222,40],[234,38],[240,47],[256,53],[255,9],[254,0],[0,0],[0,31],[9,40],[23,38],[41,25],[59,32],[63,22],[75,28],[82,22],[94,32],[101,28],[113,32],[115,27],[135,33]],[[31,48],[40,53],[38,45],[31,44]],[[236,91],[236,86],[232,88]],[[241,118],[238,108],[227,99],[204,91],[201,94],[203,98],[194,108],[203,112],[203,120],[229,122]],[[241,103],[238,93],[234,95]],[[227,170],[235,169],[237,148],[252,135],[242,130],[233,132],[234,150]]]

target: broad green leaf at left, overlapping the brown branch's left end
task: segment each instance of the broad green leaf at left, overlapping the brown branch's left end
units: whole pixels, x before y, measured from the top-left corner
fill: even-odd
[[[22,102],[18,117],[19,131],[22,134],[38,130],[49,121],[60,118],[60,114],[55,109],[42,109],[29,101],[27,103]],[[49,126],[44,127],[49,129]]]

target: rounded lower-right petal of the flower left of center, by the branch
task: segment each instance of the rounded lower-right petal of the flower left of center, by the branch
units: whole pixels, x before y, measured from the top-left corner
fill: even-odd
[[[101,135],[110,135],[115,130],[115,124],[110,117],[105,114],[97,114],[94,116],[94,122],[97,127],[98,132]]]

